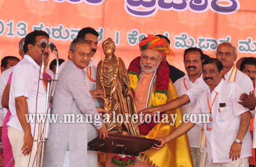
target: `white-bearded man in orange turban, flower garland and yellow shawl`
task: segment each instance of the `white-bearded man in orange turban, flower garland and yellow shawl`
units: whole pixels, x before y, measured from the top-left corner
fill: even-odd
[[[163,105],[178,97],[175,87],[169,79],[169,68],[162,59],[170,51],[165,38],[149,34],[141,40],[139,47],[141,56],[133,59],[128,68],[137,111]],[[171,122],[172,126],[170,126],[170,122],[163,121],[164,117],[171,120],[171,113],[177,114],[179,120],[182,118],[180,108],[166,111],[165,115],[164,113],[156,114],[152,116],[152,119],[145,116],[145,121],[138,123],[140,134],[149,139],[167,136],[168,132],[173,131],[179,125],[178,121]],[[159,150],[146,150],[140,158],[141,162],[137,161],[135,167],[152,167],[154,165],[155,167],[192,167],[187,135],[168,143],[168,146]]]

